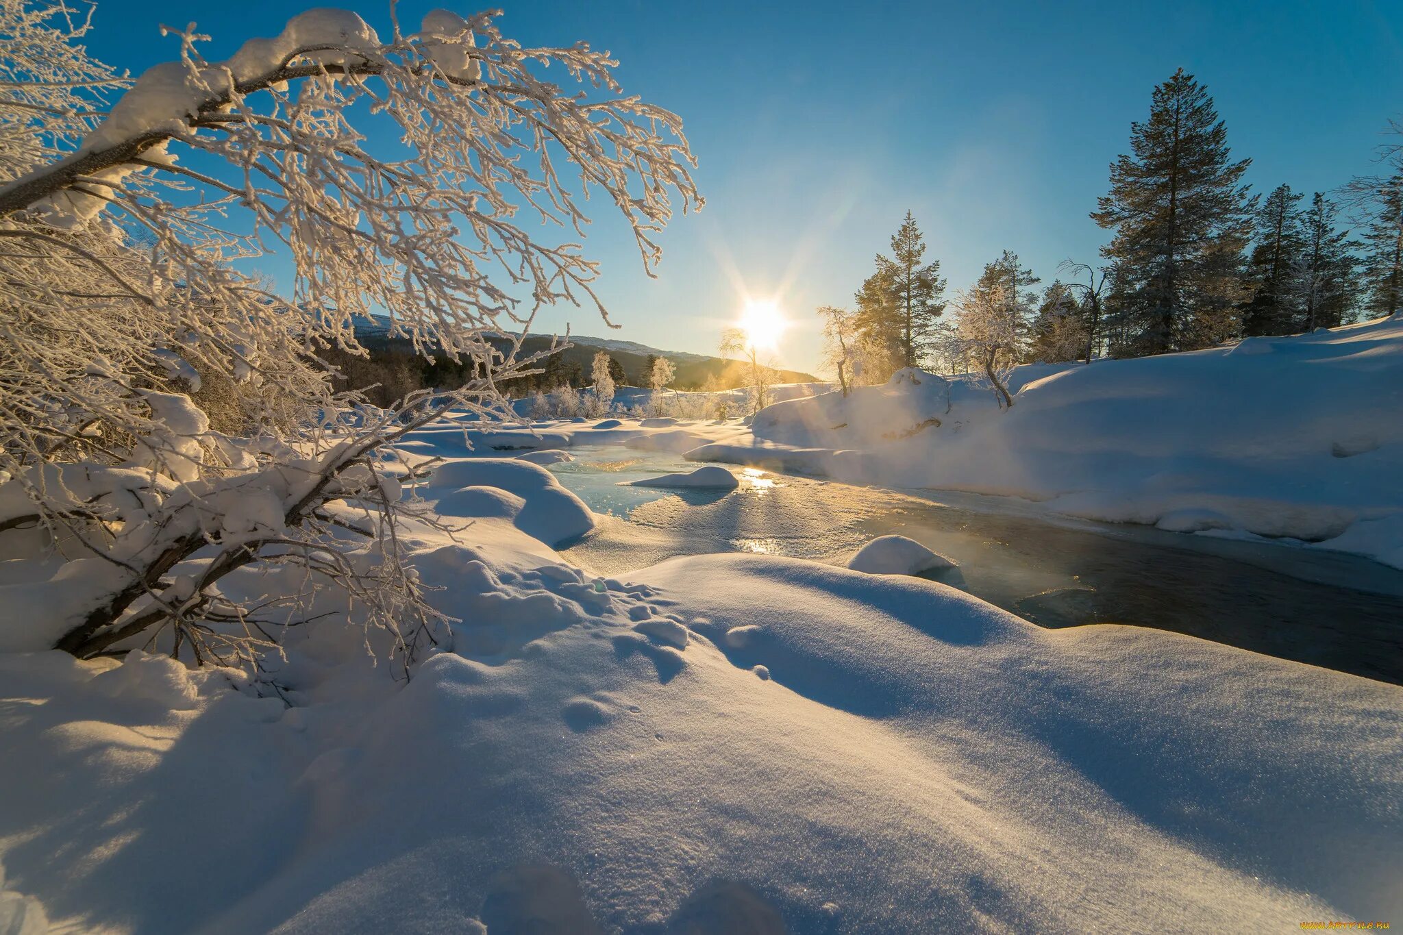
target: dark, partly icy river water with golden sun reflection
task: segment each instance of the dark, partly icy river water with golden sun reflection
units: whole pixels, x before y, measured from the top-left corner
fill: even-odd
[[[550,470],[615,519],[565,554],[599,573],[735,551],[846,562],[867,540],[899,533],[958,562],[934,580],[1042,627],[1155,627],[1403,684],[1403,572],[1365,558],[753,468],[734,468],[737,491],[617,486],[697,465],[615,446],[572,453]]]

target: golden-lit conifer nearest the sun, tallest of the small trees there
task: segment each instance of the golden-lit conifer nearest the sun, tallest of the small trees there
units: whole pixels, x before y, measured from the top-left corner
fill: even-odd
[[[906,219],[891,238],[891,257],[877,257],[878,278],[874,289],[888,289],[891,310],[887,313],[897,334],[892,335],[902,367],[919,367],[936,343],[940,315],[946,310],[946,280],[940,276],[940,261],[922,262],[926,243],[916,227],[916,219]],[[864,289],[867,285],[864,283]],[[861,306],[859,293],[859,306]],[[888,325],[891,327],[891,325]]]

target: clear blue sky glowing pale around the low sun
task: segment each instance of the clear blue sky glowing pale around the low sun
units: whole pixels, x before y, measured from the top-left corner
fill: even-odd
[[[1205,83],[1254,191],[1330,189],[1369,170],[1403,116],[1403,3],[673,3],[497,0],[526,45],[589,41],[624,90],[682,115],[707,196],[678,217],[655,280],[600,217],[586,252],[622,329],[609,336],[714,352],[742,292],[796,321],[784,363],[811,369],[814,308],[846,304],[906,209],[950,290],[1007,248],[1044,280],[1106,240],[1087,212],[1183,66]],[[175,55],[161,22],[195,21],[223,57],[314,4],[100,0],[88,45],[133,73]],[[387,28],[387,4],[342,3]],[[404,0],[417,22],[432,6]],[[607,205],[593,202],[603,213]],[[539,321],[605,334],[577,308]]]

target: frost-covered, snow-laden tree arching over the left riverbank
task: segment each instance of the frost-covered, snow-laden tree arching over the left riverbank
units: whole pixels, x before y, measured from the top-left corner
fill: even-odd
[[[680,122],[622,95],[607,53],[523,49],[494,15],[382,39],[313,10],[227,62],[189,27],[129,83],[65,7],[0,0],[0,535],[69,559],[7,643],[248,663],[330,592],[401,653],[445,622],[403,562],[397,530],[428,520],[391,446],[442,407],[505,412],[497,387],[544,353],[490,338],[543,304],[603,314],[568,241],[588,189],[650,272],[654,231],[702,203]],[[268,251],[285,292],[234,266]],[[389,411],[337,393],[318,355],[365,355],[370,314],[476,377]]]

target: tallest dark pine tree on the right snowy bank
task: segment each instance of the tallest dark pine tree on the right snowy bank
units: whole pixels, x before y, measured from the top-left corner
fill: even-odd
[[[1149,121],[1111,164],[1111,191],[1092,217],[1114,228],[1101,252],[1122,279],[1134,352],[1198,348],[1232,335],[1242,251],[1256,199],[1229,158],[1228,130],[1207,88],[1180,69],[1155,88]]]

